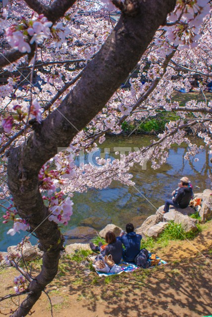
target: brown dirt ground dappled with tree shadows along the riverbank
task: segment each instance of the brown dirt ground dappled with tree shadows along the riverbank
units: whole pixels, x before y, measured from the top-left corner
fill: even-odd
[[[201,252],[202,254],[198,253]],[[193,241],[171,241],[157,254],[168,265],[122,273],[112,278],[88,276],[76,262],[61,266],[48,286],[54,317],[203,317],[212,315],[212,221]],[[206,258],[205,258],[206,257]],[[67,264],[66,264],[67,265]],[[0,296],[13,293],[13,268],[0,273]],[[23,299],[23,296],[21,296]],[[15,310],[18,297],[0,302],[0,316]],[[34,317],[51,317],[43,294]]]

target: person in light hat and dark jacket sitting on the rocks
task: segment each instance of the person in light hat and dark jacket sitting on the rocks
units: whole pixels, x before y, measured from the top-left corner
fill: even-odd
[[[172,197],[172,199],[167,199],[165,201],[165,206],[163,210],[164,213],[169,211],[170,205],[176,208],[182,208],[182,209],[188,207],[192,195],[193,195],[193,191],[192,191],[192,188],[189,187],[188,177],[181,178],[179,190],[176,196]]]

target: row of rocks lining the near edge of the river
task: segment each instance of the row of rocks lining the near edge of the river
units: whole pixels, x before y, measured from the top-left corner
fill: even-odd
[[[195,194],[195,198],[201,198],[202,203],[199,208],[199,215],[201,217],[201,222],[212,219],[212,190],[206,189],[203,193]],[[149,216],[140,227],[136,229],[138,234],[141,234],[144,239],[148,237],[158,238],[160,234],[164,231],[165,227],[168,225],[170,220],[174,223],[181,223],[185,232],[195,232],[198,230],[196,224],[199,220],[191,218],[189,215],[195,213],[195,209],[187,207],[185,209],[176,209],[175,207],[170,207],[169,212],[163,214],[163,207],[159,207],[156,211],[156,214]],[[87,224],[87,223],[86,223]],[[75,229],[71,229],[66,232],[67,242],[72,242],[67,244],[65,247],[66,254],[72,254],[79,249],[90,250],[89,242],[94,236],[99,234],[100,237],[105,238],[107,231],[114,232],[115,236],[118,236],[121,232],[121,228],[110,223],[107,224],[104,229],[99,233],[91,227],[80,226]],[[77,243],[73,243],[73,242]],[[78,242],[82,243],[78,243]],[[17,254],[16,246],[8,247],[7,252],[0,252],[4,258],[8,254]],[[19,256],[20,252],[19,252]],[[41,258],[43,252],[37,246],[32,246],[30,243],[27,243],[23,247],[22,257],[25,261],[31,261],[35,258]]]

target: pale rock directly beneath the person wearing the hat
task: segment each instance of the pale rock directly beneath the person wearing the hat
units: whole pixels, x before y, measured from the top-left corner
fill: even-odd
[[[195,219],[192,219],[188,215],[184,215],[177,210],[170,209],[169,212],[164,213],[163,221],[168,222],[170,220],[173,220],[174,223],[181,223],[186,232],[197,231]]]

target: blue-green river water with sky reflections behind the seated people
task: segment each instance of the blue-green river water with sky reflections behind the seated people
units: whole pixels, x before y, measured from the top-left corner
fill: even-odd
[[[115,148],[125,147],[133,150],[133,148],[149,144],[151,139],[153,139],[152,136],[146,135],[107,137],[100,152],[109,152],[106,154],[106,158],[117,158]],[[191,139],[198,145],[202,144],[198,138]],[[163,205],[166,198],[171,198],[171,192],[177,187],[182,176],[189,177],[196,193],[210,188],[211,180],[208,175],[212,173],[212,163],[207,151],[203,150],[197,156],[198,162],[185,160],[186,151],[185,144],[172,147],[166,163],[157,170],[151,168],[150,162],[147,162],[147,166],[143,166],[143,169],[138,164],[134,165],[130,172],[133,174],[136,188],[113,181],[106,189],[90,189],[87,193],[75,194],[73,216],[68,226],[61,229],[62,232],[65,233],[78,226],[100,230],[108,223],[124,227],[127,222],[133,222],[135,227],[138,227],[148,215],[155,213],[156,210],[153,206],[158,208]],[[94,156],[100,157],[100,153],[96,153]],[[10,226],[11,223],[5,225],[0,222],[0,251],[6,251],[8,246],[17,244],[24,237],[23,232],[17,233],[13,237],[8,236],[6,231]],[[35,238],[32,237],[31,243],[34,244],[35,241]]]

